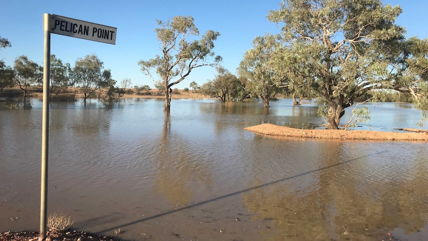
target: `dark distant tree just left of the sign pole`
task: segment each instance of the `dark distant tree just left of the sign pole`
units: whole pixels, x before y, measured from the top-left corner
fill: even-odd
[[[28,87],[36,83],[41,83],[43,79],[42,68],[24,55],[15,59],[13,72],[13,81],[23,91],[24,98],[27,96]]]

